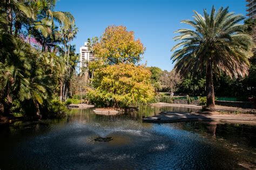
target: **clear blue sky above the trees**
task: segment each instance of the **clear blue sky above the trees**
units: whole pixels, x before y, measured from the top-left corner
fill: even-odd
[[[230,11],[246,15],[245,0],[60,0],[56,10],[69,11],[76,18],[79,31],[73,44],[77,53],[87,38],[100,37],[107,26],[124,25],[146,47],[141,63],[170,71],[173,31],[189,28],[180,21],[192,19],[193,10],[210,12],[212,5],[217,9],[229,6]]]

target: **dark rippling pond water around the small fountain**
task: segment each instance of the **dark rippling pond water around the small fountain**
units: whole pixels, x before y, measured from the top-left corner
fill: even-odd
[[[256,126],[142,123],[188,108],[143,106],[96,115],[74,109],[58,120],[0,126],[0,169],[245,169],[256,167]],[[112,137],[96,142],[96,137]]]

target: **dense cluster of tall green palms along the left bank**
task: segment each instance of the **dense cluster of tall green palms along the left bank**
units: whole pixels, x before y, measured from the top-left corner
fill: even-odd
[[[41,114],[51,100],[65,100],[78,56],[78,29],[55,0],[0,2],[0,111]]]

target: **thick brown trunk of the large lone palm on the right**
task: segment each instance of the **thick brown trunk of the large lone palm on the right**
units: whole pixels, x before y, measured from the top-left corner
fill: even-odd
[[[210,61],[206,67],[206,109],[215,111],[214,89],[212,78],[212,62]]]

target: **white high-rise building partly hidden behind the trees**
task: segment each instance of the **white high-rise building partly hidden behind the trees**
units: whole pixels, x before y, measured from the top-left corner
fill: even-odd
[[[88,63],[93,60],[98,60],[98,58],[93,57],[93,54],[89,51],[88,43],[85,42],[84,46],[80,47],[80,70],[82,67],[87,68]]]

